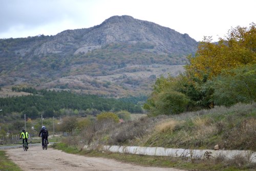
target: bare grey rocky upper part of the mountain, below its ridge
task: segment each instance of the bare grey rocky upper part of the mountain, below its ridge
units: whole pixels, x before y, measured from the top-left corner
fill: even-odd
[[[78,50],[84,47],[100,48],[113,42],[146,42],[154,45],[158,53],[195,53],[197,41],[188,34],[162,27],[152,22],[135,19],[131,16],[113,16],[102,24],[88,29],[66,30],[54,36],[34,51],[35,55],[65,52],[67,47]],[[81,49],[80,52],[87,52]]]

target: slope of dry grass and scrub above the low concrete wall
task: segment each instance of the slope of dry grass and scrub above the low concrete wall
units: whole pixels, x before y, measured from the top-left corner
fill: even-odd
[[[253,102],[230,107],[216,106],[210,110],[179,115],[145,116],[125,122],[103,117],[88,118],[82,122],[83,126],[79,130],[73,127],[76,132],[62,139],[62,142],[92,148],[101,145],[129,145],[214,149],[218,144],[220,149],[256,151],[255,115],[256,103]]]

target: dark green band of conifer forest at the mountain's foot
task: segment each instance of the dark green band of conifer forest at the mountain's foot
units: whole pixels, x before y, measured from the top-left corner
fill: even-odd
[[[36,94],[19,97],[0,98],[1,115],[11,113],[26,114],[29,118],[37,118],[41,114],[52,117],[65,114],[63,109],[78,111],[129,111],[131,113],[142,113],[142,108],[132,102],[123,99],[103,98],[96,95],[79,95],[67,91],[47,91],[27,89]],[[77,112],[74,112],[77,111]],[[89,113],[89,112],[88,112]],[[92,112],[93,113],[93,112]]]

